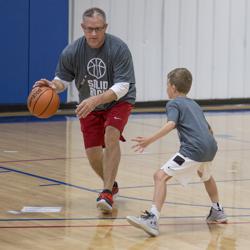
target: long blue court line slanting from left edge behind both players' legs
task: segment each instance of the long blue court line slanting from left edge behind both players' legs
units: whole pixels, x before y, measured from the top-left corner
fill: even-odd
[[[73,187],[73,188],[77,188],[77,189],[81,189],[81,190],[85,190],[85,191],[89,191],[92,193],[98,193],[97,189],[90,189],[90,188],[86,188],[86,187],[81,187],[78,185],[74,185],[74,184],[70,184],[64,181],[58,181],[52,178],[48,178],[48,177],[43,177],[40,175],[35,175],[35,174],[30,174],[24,171],[20,171],[20,170],[16,170],[16,169],[11,169],[8,167],[4,167],[4,166],[0,166],[0,168],[5,169],[5,170],[10,170],[13,171],[15,173],[19,173],[19,174],[23,174],[23,175],[27,175],[27,176],[31,176],[34,178],[38,178],[38,179],[42,179],[42,180],[47,180],[47,181],[51,181],[54,182],[56,184],[62,184],[65,186],[69,186],[69,187]],[[137,200],[137,201],[146,201],[146,202],[152,202],[151,199],[143,199],[143,198],[138,198],[138,197],[131,197],[131,196],[123,196],[123,195],[119,195],[119,197],[124,198],[124,199],[129,199],[129,200]],[[202,205],[202,204],[189,204],[189,203],[182,203],[182,202],[164,202],[164,204],[171,204],[171,205],[181,205],[181,206],[191,206],[191,207],[210,207],[210,205]],[[239,210],[250,210],[250,208],[242,208],[242,207],[227,207],[227,206],[223,206],[224,208],[227,209],[239,209]]]

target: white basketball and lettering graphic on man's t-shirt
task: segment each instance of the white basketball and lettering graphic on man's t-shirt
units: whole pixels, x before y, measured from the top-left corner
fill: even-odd
[[[90,96],[102,94],[108,89],[108,81],[100,80],[106,74],[106,65],[100,58],[92,58],[87,65],[89,76],[93,79],[88,79]]]

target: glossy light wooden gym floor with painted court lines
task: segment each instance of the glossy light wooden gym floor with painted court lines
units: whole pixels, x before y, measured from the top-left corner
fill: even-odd
[[[144,154],[131,149],[131,139],[154,132],[166,121],[164,114],[131,115],[127,142],[121,143],[120,196],[112,215],[105,216],[96,209],[102,185],[88,164],[78,120],[17,115],[0,117],[0,250],[249,249],[247,109],[205,113],[219,145],[214,177],[229,223],[206,224],[210,201],[198,177],[187,188],[171,180],[157,238],[133,228],[125,217],[150,207],[153,173],[179,147],[172,132]]]

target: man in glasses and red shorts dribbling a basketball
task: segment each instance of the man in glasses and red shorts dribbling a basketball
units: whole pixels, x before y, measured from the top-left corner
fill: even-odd
[[[119,139],[124,141],[122,131],[136,96],[131,53],[121,39],[106,33],[107,26],[103,10],[86,10],[81,23],[84,36],[63,50],[52,81],[35,84],[61,92],[75,80],[80,100],[76,115],[89,163],[103,180],[97,208],[104,213],[112,211],[118,192]]]

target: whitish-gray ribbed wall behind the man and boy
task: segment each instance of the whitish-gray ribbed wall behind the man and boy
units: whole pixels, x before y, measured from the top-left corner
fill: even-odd
[[[250,97],[249,0],[70,0],[71,40],[82,35],[82,12],[106,11],[108,32],[131,49],[137,101],[165,100],[166,74],[189,68],[190,97]],[[68,100],[76,100],[70,88]]]

